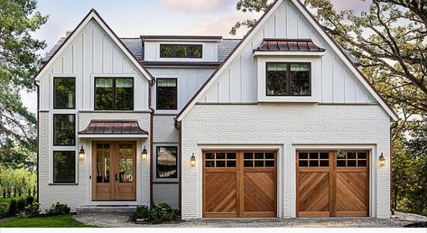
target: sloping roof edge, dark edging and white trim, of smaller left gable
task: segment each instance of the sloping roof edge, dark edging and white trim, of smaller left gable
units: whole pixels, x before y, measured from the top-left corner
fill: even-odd
[[[57,46],[56,50],[51,54],[48,61],[46,61],[46,63],[42,66],[42,69],[39,70],[39,72],[35,75],[34,79],[37,81],[42,77],[44,72],[48,70],[47,67],[51,65],[51,61],[57,59],[60,52],[64,51],[67,48],[70,42],[74,40],[74,38],[81,32],[81,30],[85,27],[85,25],[88,24],[88,22],[92,19],[95,20],[105,32],[107,32],[108,36],[110,36],[110,38],[116,43],[116,45],[121,49],[121,51],[125,53],[126,57],[129,58],[130,61],[132,61],[136,69],[139,70],[146,79],[152,80],[153,77],[148,72],[148,70],[146,70],[144,66],[142,66],[138,62],[134,53],[132,53],[132,51],[130,51],[129,48],[125,46],[125,43],[122,40],[120,40],[120,38],[118,38],[116,33],[114,33],[114,31],[111,30],[108,24],[104,21],[104,19],[102,19],[101,15],[99,15],[95,9],[91,9],[88,12],[88,14],[86,14],[86,16],[80,21],[77,27],[70,33],[69,36],[67,36],[63,40],[63,42],[60,43],[60,45],[58,45],[59,43],[55,45]],[[55,49],[55,46],[53,49]]]

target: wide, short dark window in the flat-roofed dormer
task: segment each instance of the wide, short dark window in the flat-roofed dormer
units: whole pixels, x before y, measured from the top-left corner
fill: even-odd
[[[168,44],[160,45],[161,58],[202,58],[201,44]]]

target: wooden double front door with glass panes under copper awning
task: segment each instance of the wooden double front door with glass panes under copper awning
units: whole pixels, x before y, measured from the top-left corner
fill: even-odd
[[[92,200],[136,200],[135,142],[92,146]]]

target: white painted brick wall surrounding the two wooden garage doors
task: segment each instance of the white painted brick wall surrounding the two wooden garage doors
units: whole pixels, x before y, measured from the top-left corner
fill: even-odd
[[[201,150],[206,146],[272,146],[279,152],[279,216],[295,217],[295,150],[372,148],[370,215],[390,216],[390,116],[377,105],[195,105],[182,120],[182,218],[201,218]],[[190,168],[191,154],[197,166]],[[376,163],[384,153],[385,167]],[[280,164],[279,163],[279,164]],[[281,182],[282,181],[282,182]]]

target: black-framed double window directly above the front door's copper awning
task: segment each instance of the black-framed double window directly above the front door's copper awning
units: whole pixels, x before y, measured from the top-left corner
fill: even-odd
[[[133,110],[134,79],[96,78],[95,110]]]

